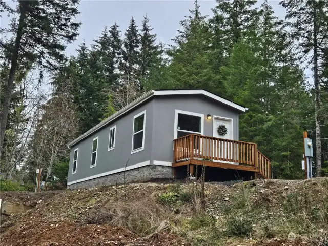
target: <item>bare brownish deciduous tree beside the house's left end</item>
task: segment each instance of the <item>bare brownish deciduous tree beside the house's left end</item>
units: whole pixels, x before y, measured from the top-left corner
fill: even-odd
[[[35,168],[47,171],[47,179],[55,161],[68,156],[66,145],[76,135],[77,117],[66,93],[54,95],[46,105],[38,108],[37,115],[30,161]]]

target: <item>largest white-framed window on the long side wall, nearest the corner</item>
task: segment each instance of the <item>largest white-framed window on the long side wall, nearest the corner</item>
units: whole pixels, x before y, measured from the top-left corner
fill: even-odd
[[[146,110],[133,117],[131,154],[144,150]]]

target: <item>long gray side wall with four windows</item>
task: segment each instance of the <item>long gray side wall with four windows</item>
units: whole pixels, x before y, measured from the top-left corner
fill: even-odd
[[[138,107],[123,117],[111,122],[105,128],[90,135],[71,148],[68,182],[87,178],[93,175],[124,168],[129,159],[128,166],[149,161],[151,158],[151,140],[153,128],[154,100]],[[145,149],[131,154],[133,117],[146,110]],[[108,151],[109,129],[116,125],[115,148]],[[90,168],[92,140],[98,138],[96,166]],[[74,150],[78,148],[76,173],[72,174]],[[152,162],[151,162],[152,163]]]

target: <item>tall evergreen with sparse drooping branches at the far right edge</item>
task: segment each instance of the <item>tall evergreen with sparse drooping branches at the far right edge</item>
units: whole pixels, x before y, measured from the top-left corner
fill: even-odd
[[[286,8],[285,25],[290,37],[301,52],[298,59],[311,66],[314,78],[315,129],[316,129],[316,175],[321,176],[321,98],[323,78],[323,57],[328,47],[328,2],[326,0],[283,0],[280,4]]]

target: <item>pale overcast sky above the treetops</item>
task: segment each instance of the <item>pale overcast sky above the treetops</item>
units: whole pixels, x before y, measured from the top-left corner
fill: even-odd
[[[262,3],[263,1],[258,1],[256,7]],[[198,4],[202,15],[212,16],[211,8],[216,5],[214,0],[199,0]],[[283,19],[285,10],[279,5],[279,0],[269,0],[269,4],[275,11],[275,15]],[[105,26],[111,26],[114,22],[120,26],[123,34],[133,16],[140,28],[146,14],[159,42],[172,44],[171,39],[178,34],[180,29],[180,20],[189,15],[188,9],[192,9],[193,6],[194,0],[81,0],[78,8],[80,14],[77,16],[78,22],[81,22],[80,35],[74,43],[68,45],[67,55],[74,55],[83,40],[90,45],[92,40],[100,36]]]

